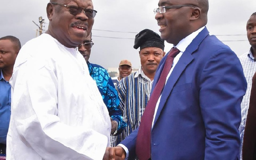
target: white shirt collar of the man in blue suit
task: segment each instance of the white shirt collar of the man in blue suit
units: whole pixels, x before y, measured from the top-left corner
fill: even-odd
[[[191,42],[193,41],[193,39],[205,28],[205,26],[203,26],[202,28],[198,29],[197,31],[191,33],[190,35],[186,36],[186,38],[183,38],[176,47],[177,49],[180,50],[180,52],[185,52],[186,48],[189,46],[189,44],[191,44]]]

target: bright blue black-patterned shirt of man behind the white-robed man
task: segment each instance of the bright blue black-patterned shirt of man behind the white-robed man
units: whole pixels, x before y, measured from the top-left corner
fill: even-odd
[[[90,76],[96,81],[99,92],[102,95],[103,102],[108,108],[109,116],[118,123],[117,134],[126,127],[126,122],[123,121],[122,111],[119,108],[119,99],[116,88],[108,74],[100,65],[87,62]]]

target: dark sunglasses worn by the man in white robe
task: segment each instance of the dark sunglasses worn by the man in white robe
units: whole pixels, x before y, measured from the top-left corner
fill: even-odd
[[[97,13],[97,11],[95,11],[93,9],[84,9],[82,7],[79,7],[79,6],[69,6],[69,5],[60,4],[60,3],[56,3],[56,2],[50,2],[50,3],[55,4],[55,5],[59,5],[59,6],[62,6],[62,7],[65,7],[67,9],[69,9],[70,14],[74,15],[74,16],[78,15],[79,13],[82,12],[82,10],[84,10],[84,14],[88,18],[92,19],[92,18],[94,18],[96,16],[96,13]]]

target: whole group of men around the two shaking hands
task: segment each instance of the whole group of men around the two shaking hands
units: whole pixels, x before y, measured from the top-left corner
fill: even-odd
[[[51,0],[48,30],[22,47],[0,38],[0,155],[255,160],[256,12],[246,24],[251,47],[238,58],[209,35],[208,0],[158,6],[161,35],[135,35],[141,67],[131,73],[122,60],[113,79],[89,62],[92,0]],[[173,44],[168,53],[164,41]]]

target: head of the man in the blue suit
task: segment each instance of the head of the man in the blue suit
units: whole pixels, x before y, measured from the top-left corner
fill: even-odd
[[[192,6],[186,6],[186,5]],[[209,10],[208,0],[159,0],[158,6],[178,6],[177,9],[166,9],[166,13],[155,15],[160,26],[161,38],[177,45],[192,32],[206,26]]]

